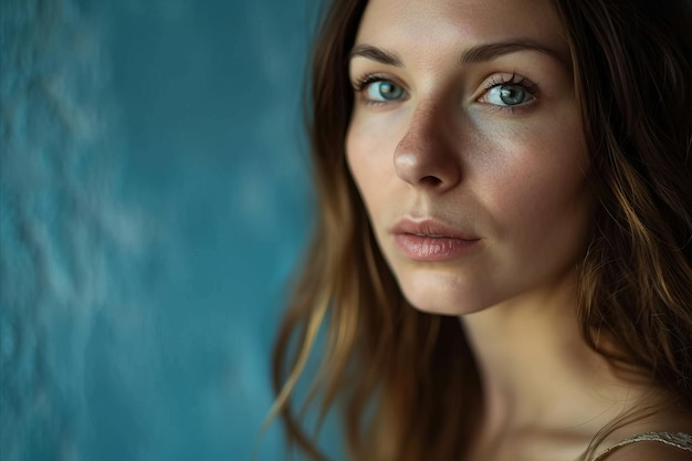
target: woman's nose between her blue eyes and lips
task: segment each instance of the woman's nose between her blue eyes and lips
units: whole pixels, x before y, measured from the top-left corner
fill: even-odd
[[[417,107],[395,150],[397,176],[406,182],[438,192],[461,180],[459,134],[454,115],[440,107]]]

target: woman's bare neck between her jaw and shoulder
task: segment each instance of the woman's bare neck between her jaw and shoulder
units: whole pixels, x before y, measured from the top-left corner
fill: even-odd
[[[584,342],[575,279],[462,318],[483,381],[483,437],[589,439],[641,394]]]

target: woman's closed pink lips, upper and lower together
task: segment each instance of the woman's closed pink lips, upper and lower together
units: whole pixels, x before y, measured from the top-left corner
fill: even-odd
[[[449,261],[469,254],[480,238],[434,219],[398,221],[391,228],[399,251],[415,261]]]

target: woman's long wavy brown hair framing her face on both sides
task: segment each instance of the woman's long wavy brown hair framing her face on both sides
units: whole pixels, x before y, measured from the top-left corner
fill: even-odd
[[[483,396],[455,317],[408,305],[348,174],[347,56],[365,0],[336,0],[316,40],[308,132],[318,214],[274,349],[291,441],[325,457],[293,389],[321,328],[322,367],[304,405],[343,406],[355,460],[462,459]],[[572,49],[590,179],[600,202],[579,268],[587,344],[692,407],[692,43],[682,2],[556,0]],[[615,348],[602,349],[607,336]]]

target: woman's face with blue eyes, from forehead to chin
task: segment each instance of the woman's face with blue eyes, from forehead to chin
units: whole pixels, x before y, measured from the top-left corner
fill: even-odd
[[[349,73],[348,165],[411,304],[462,314],[570,286],[593,200],[548,0],[371,0]]]

